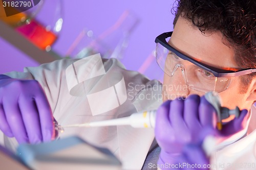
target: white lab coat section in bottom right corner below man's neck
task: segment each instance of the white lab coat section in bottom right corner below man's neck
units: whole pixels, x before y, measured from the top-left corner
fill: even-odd
[[[211,169],[216,170],[255,170],[256,169],[256,108],[251,107],[248,127],[226,141],[227,146],[212,155]],[[247,132],[246,132],[247,130]],[[231,139],[232,138],[232,139]],[[238,140],[240,139],[240,140]],[[234,142],[236,141],[236,142]],[[233,142],[231,144],[228,144]]]

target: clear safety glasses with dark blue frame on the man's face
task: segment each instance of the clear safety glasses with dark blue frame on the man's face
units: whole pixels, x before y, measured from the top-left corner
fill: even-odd
[[[188,57],[167,43],[166,39],[171,37],[172,33],[163,33],[156,38],[157,63],[170,77],[180,68],[185,84],[190,88],[203,92],[221,92],[228,88],[232,77],[256,72],[256,69],[252,68],[238,71],[219,69]],[[190,64],[185,64],[186,62]]]

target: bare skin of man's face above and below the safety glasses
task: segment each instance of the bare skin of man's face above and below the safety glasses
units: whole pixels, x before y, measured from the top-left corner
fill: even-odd
[[[228,42],[225,41],[221,32],[206,32],[202,34],[198,28],[192,26],[192,23],[184,18],[179,17],[168,43],[183,54],[207,65],[230,70],[238,70],[239,68],[234,61],[233,48],[225,45]],[[201,96],[205,94],[188,88],[182,78],[180,69],[175,71],[173,77],[165,74],[163,85],[163,87],[167,87],[163,89],[164,101],[190,94]],[[172,86],[172,88],[168,88],[169,86]],[[252,104],[251,101],[247,101],[249,91],[241,94],[240,88],[242,88],[242,85],[239,78],[232,78],[228,89],[219,93],[222,105],[230,109],[236,106],[240,109],[249,109]]]

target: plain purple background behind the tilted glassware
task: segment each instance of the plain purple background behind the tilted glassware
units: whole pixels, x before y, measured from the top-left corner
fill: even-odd
[[[55,0],[45,0],[47,10],[53,10],[51,3]],[[99,35],[110,28],[125,10],[131,10],[140,19],[139,25],[130,37],[129,46],[124,53],[123,64],[127,69],[138,70],[146,58],[155,50],[155,38],[163,32],[173,30],[174,15],[171,12],[174,0],[161,1],[120,1],[120,0],[60,0],[62,2],[63,26],[60,35],[52,46],[53,50],[65,56],[70,45],[84,29],[93,30]],[[40,15],[48,18],[47,11]],[[0,37],[0,73],[8,71],[23,71],[26,66],[37,66],[33,61],[14,46]],[[162,76],[154,60],[144,74],[149,78]]]

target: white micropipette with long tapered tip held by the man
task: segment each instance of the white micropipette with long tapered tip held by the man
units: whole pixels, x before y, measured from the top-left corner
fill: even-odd
[[[216,109],[217,112],[217,128],[222,129],[222,120],[228,118],[230,115],[240,115],[240,110],[237,107],[234,110],[221,107],[220,97],[216,92],[208,92],[205,94],[205,99]],[[90,122],[84,124],[73,124],[63,126],[62,128],[69,127],[103,127],[103,126],[118,126],[118,125],[130,125],[134,128],[155,128],[156,122],[156,110],[144,111],[140,113],[133,113],[131,116],[102,120],[98,122]]]

